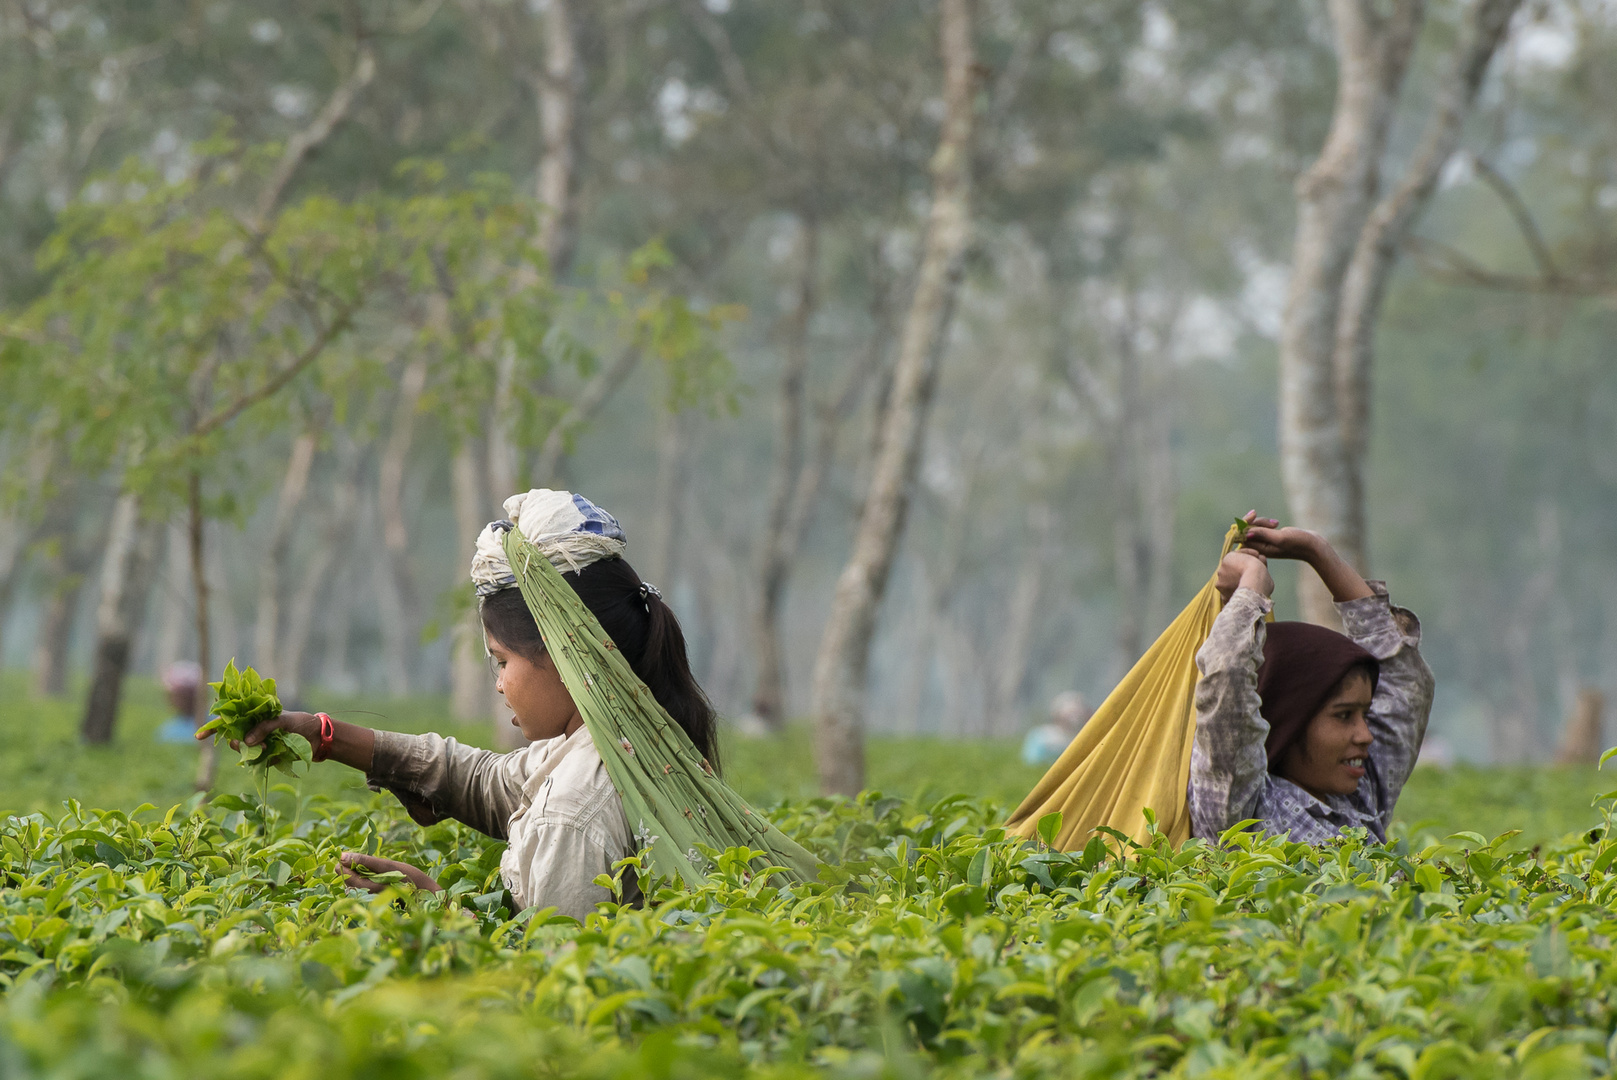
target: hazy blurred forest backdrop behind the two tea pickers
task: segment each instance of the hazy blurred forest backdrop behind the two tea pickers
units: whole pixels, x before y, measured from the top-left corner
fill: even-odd
[[[863,723],[1098,702],[1232,514],[1337,532],[1281,357],[1349,61],[1386,226],[1347,238],[1386,270],[1349,548],[1423,619],[1434,736],[1547,758],[1617,692],[1611,0],[0,0],[5,686],[115,716],[202,632],[293,702],[492,719],[472,538],[550,485],[619,517],[726,716],[810,715],[957,63]]]

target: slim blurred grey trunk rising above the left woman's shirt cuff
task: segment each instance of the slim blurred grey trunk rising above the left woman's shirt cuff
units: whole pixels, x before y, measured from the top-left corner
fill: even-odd
[[[395,695],[409,694],[411,661],[420,637],[420,613],[416,603],[416,580],[409,567],[409,527],[404,522],[404,466],[416,435],[416,412],[427,388],[427,362],[412,361],[399,380],[399,396],[393,406],[382,462],[377,469],[377,513],[382,517],[382,542],[386,551],[388,603],[393,618],[382,627],[388,661],[388,682]]]

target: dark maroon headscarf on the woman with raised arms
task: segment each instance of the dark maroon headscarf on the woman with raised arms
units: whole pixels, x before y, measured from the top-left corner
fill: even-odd
[[[1313,622],[1269,622],[1263,666],[1258,668],[1258,697],[1263,700],[1258,711],[1269,721],[1263,749],[1271,770],[1324,708],[1331,690],[1355,668],[1370,676],[1374,692],[1381,663],[1350,637]]]

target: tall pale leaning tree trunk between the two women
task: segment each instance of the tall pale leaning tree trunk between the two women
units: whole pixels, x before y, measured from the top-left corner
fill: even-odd
[[[970,0],[941,0],[939,11],[946,113],[931,160],[927,239],[899,340],[870,490],[815,656],[817,757],[820,787],[828,794],[854,795],[865,786],[863,695],[870,639],[909,511],[970,230],[972,5]]]

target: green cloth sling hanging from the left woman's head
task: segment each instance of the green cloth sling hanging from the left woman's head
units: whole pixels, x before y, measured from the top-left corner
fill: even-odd
[[[710,870],[699,844],[749,847],[766,852],[754,860],[755,868],[781,867],[791,880],[813,881],[818,860],[713,773],[550,559],[514,527],[506,532],[505,551],[561,682],[623,797],[634,839],[650,849],[652,870],[689,888]]]

